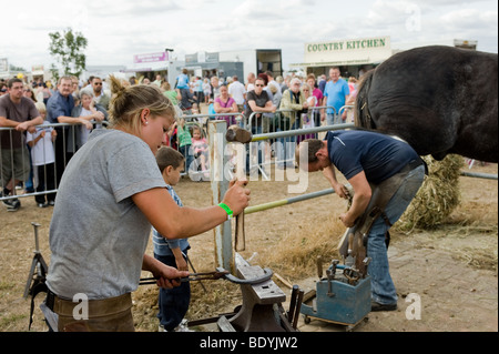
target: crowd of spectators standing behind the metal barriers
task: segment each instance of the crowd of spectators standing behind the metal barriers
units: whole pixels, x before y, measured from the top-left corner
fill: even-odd
[[[31,165],[29,175],[24,176],[26,171],[22,171],[21,175],[16,176],[12,175],[14,171],[10,171],[11,169],[2,163],[0,196],[14,195],[16,192],[12,191],[11,184],[19,186],[23,183],[26,192],[57,189],[71,156],[85,143],[89,133],[108,120],[111,93],[105,79],[90,77],[83,82],[77,77],[62,77],[54,84],[50,80],[41,79],[28,83],[26,78],[18,78],[16,81],[18,81],[18,85],[19,82],[22,84],[23,100],[32,101],[32,109],[35,112],[43,112],[43,118],[40,119],[38,119],[40,114],[34,113],[13,117],[12,110],[2,109],[1,102],[6,107],[8,105],[6,103],[11,101],[8,101],[8,98],[12,97],[10,89],[12,80],[0,80],[0,127],[14,128],[16,131],[21,132],[19,139],[22,139],[22,146],[18,159],[26,159],[26,152],[28,152]],[[242,83],[237,75],[227,78],[189,77],[187,70],[184,69],[176,78],[174,87],[161,74],[156,74],[154,80],[145,77],[131,77],[122,80],[122,83],[123,85],[157,85],[163,94],[172,101],[179,120],[173,129],[165,133],[164,145],[170,145],[184,154],[185,170],[189,170],[191,165],[202,165],[201,172],[205,175],[204,161],[203,163],[192,163],[194,155],[192,146],[195,144],[192,141],[193,128],[196,125],[195,123],[200,123],[198,125],[203,128],[205,121],[190,119],[193,114],[200,114],[203,105],[208,107],[210,119],[224,119],[227,121],[227,127],[240,122],[241,115],[244,115],[247,122],[249,115],[256,111],[257,114],[254,115],[252,122],[253,133],[318,127],[324,122],[327,124],[340,123],[347,120],[348,111],[345,110],[342,115],[332,113],[337,113],[339,108],[345,104],[353,104],[356,95],[356,81],[355,78],[349,78],[348,81],[342,79],[338,68],[329,70],[329,79],[325,74],[316,78],[313,73],[306,78],[295,75],[283,78],[274,77],[273,72],[266,71],[258,74],[248,73],[245,83]],[[1,99],[1,97],[6,98]],[[328,107],[328,109],[314,109],[316,107]],[[278,112],[281,110],[283,113]],[[289,110],[295,111],[294,114],[291,114]],[[235,115],[227,115],[227,113]],[[222,115],[217,117],[216,114]],[[30,124],[37,121],[38,124],[44,123],[44,125],[49,123],[69,123],[70,125],[54,125],[49,132],[48,129],[23,128],[27,125],[27,121],[31,122]],[[206,138],[206,130],[202,129],[201,133],[204,134],[202,138]],[[10,140],[7,138],[8,132],[3,131],[1,134],[2,154],[12,155]],[[27,141],[27,136],[30,141]],[[301,136],[297,139],[299,140]],[[40,163],[38,162],[37,165],[33,163],[33,151],[40,153],[40,149],[35,149],[34,144],[41,141],[44,142],[44,149],[49,149],[48,140],[53,143],[54,161],[50,161],[48,164],[50,166],[54,164],[54,183],[48,183],[47,173],[43,178],[40,176]],[[289,141],[296,142],[296,138],[286,140],[286,142]],[[279,151],[278,154],[283,160],[291,160],[293,152]],[[259,161],[262,159],[262,156],[258,158]],[[3,161],[10,161],[10,158],[3,159]],[[23,162],[14,163],[14,170],[20,163]],[[43,168],[43,171],[47,171],[47,168]],[[40,185],[40,181],[45,185]],[[53,195],[51,194],[48,199],[38,198],[38,205],[40,208],[53,205]],[[20,206],[18,199],[3,200],[3,204],[8,206],[9,211],[16,211]]]

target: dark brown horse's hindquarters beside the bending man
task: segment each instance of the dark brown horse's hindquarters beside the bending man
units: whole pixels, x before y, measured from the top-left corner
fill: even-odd
[[[366,72],[355,125],[397,135],[419,155],[498,162],[497,53],[420,47]]]

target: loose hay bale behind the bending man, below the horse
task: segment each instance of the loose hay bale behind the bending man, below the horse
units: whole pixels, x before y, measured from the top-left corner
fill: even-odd
[[[464,159],[447,155],[442,161],[422,156],[428,164],[428,175],[404,215],[397,229],[411,231],[431,229],[445,221],[460,203],[459,175]]]

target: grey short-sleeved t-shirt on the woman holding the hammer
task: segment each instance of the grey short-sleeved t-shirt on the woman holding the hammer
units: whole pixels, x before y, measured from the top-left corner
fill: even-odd
[[[131,196],[166,188],[141,139],[94,130],[70,160],[50,224],[47,284],[59,296],[119,296],[136,290],[151,224]]]

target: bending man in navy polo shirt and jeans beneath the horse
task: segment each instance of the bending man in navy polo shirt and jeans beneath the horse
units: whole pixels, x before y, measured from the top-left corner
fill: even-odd
[[[347,199],[348,190],[338,183],[335,166],[354,189],[352,206],[339,219],[347,227],[361,220],[373,190],[389,196],[367,232],[368,274],[371,281],[371,311],[397,310],[397,293],[388,270],[385,235],[401,216],[418,192],[425,165],[414,149],[400,139],[371,131],[345,130],[328,132],[325,140],[308,139],[296,149],[296,162],[308,172],[323,171],[338,196]],[[390,183],[383,183],[388,181]],[[379,194],[378,194],[379,195]]]

